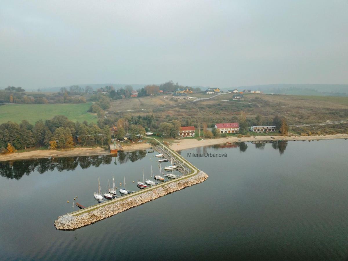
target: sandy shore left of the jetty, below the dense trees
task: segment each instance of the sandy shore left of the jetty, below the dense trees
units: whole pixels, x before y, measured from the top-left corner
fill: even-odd
[[[137,143],[126,145],[123,147],[124,151],[143,150],[150,148],[151,145],[147,143]],[[54,157],[77,157],[77,156],[92,156],[92,155],[106,155],[110,154],[109,150],[103,148],[75,148],[73,150],[33,150],[28,152],[12,153],[0,155],[0,161],[16,160],[16,159],[35,159],[35,158],[49,158]]]

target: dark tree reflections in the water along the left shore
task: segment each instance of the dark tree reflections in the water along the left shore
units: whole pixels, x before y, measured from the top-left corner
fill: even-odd
[[[95,156],[79,156],[53,159],[27,159],[12,160],[0,162],[0,175],[8,179],[21,179],[23,175],[29,175],[32,171],[38,171],[40,174],[46,171],[57,169],[59,172],[64,170],[73,171],[77,166],[82,169],[90,166],[98,167],[100,165],[109,165],[114,158],[115,164],[134,162],[146,156],[146,150],[137,150],[132,152],[118,152],[118,157],[114,155],[95,155]]]

